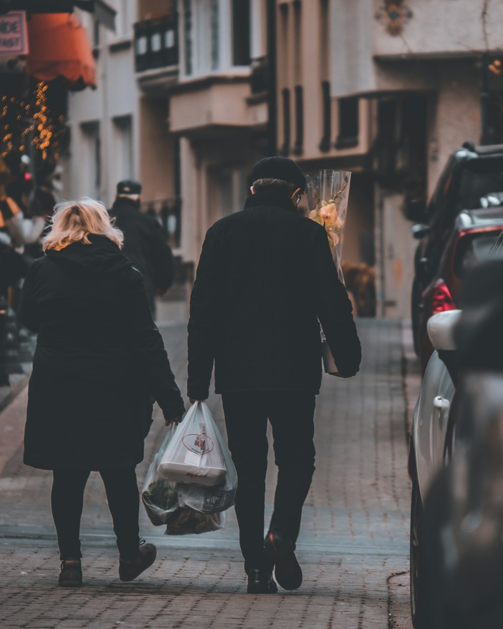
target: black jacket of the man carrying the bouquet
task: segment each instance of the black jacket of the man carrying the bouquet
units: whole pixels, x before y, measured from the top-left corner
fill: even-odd
[[[362,357],[351,303],[320,225],[267,192],[206,234],[191,296],[191,398],[321,385],[318,319],[343,376]]]

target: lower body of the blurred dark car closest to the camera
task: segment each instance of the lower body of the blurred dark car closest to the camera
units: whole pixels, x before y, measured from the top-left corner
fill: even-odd
[[[424,503],[428,629],[495,629],[503,618],[503,374],[466,377],[456,450]]]

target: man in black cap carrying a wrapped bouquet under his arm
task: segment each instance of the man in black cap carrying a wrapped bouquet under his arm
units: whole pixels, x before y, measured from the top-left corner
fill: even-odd
[[[324,228],[297,211],[306,189],[299,166],[267,157],[253,168],[241,212],[206,233],[189,320],[191,402],[222,396],[238,471],[236,515],[248,593],[297,589],[295,555],[302,505],[314,472],[314,406],[321,386],[323,326],[342,377],[355,376],[362,350],[350,299],[338,279]],[[267,420],[278,481],[265,541]]]

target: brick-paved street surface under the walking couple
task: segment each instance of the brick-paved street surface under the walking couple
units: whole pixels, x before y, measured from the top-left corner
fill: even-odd
[[[177,381],[185,387],[185,327],[162,321]],[[57,587],[50,472],[22,464],[26,396],[0,415],[0,626],[2,629],[253,628],[385,629],[388,584],[408,568],[410,488],[400,321],[360,320],[358,377],[324,376],[316,411],[316,473],[298,544],[304,584],[273,596],[246,594],[233,511],[224,530],[167,537],[141,513],[158,546],[152,569],[118,579],[117,551],[101,479],[91,475],[82,517],[84,587]],[[219,398],[209,400],[220,425]],[[145,461],[163,438],[160,412]],[[270,514],[275,480],[268,469]],[[395,625],[397,626],[397,625]],[[398,629],[405,629],[398,627]]]

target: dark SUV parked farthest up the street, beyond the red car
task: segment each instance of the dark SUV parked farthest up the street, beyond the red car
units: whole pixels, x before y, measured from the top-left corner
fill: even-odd
[[[465,142],[449,158],[428,203],[411,203],[406,216],[414,221],[412,235],[419,240],[414,256],[412,284],[412,331],[419,351],[417,330],[423,308],[423,292],[438,267],[456,216],[463,209],[503,203],[503,145],[476,147]]]

